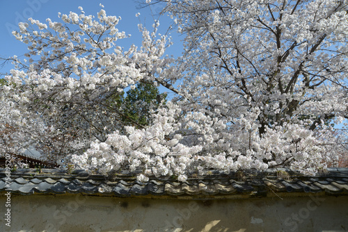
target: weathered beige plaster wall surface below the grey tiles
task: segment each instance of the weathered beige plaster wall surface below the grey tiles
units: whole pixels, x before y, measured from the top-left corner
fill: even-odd
[[[0,231],[348,231],[348,196],[262,199],[0,197]]]

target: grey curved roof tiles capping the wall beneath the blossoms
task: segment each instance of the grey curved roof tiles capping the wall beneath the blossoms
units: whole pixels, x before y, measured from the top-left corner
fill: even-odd
[[[152,178],[147,183],[136,181],[134,174],[103,176],[77,170],[70,174],[61,169],[17,169],[11,173],[10,187],[6,187],[6,173],[0,169],[0,192],[17,194],[98,194],[118,197],[142,195],[232,195],[262,196],[268,192],[325,192],[348,194],[348,168],[328,169],[316,176],[289,172],[287,179],[277,175],[279,169],[265,172],[246,172],[243,179],[237,174],[196,176],[180,183],[170,177]],[[284,171],[283,171],[284,172]]]

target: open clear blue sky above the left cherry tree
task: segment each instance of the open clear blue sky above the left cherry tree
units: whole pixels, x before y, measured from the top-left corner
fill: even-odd
[[[86,15],[97,15],[100,11],[100,3],[104,5],[107,15],[116,15],[122,17],[118,24],[120,31],[125,31],[126,34],[131,34],[132,37],[122,40],[120,46],[127,49],[130,44],[141,46],[141,33],[138,31],[139,18],[141,23],[151,30],[153,17],[152,13],[157,19],[161,8],[159,6],[152,6],[150,8],[139,9],[139,3],[133,0],[15,0],[15,1],[0,1],[0,56],[8,58],[10,56],[22,56],[26,53],[26,44],[15,40],[11,34],[16,30],[18,22],[25,21],[29,17],[38,19],[40,22],[46,22],[47,18],[52,21],[61,22],[58,18],[58,12],[62,14],[69,14],[70,11],[80,13],[79,6],[84,8]],[[135,17],[136,13],[141,13],[141,16]],[[159,18],[161,24],[159,31],[166,32],[166,29],[171,23],[171,20],[162,16]],[[182,52],[182,43],[177,33],[173,32],[173,47],[169,48],[166,53],[173,56],[180,56]],[[0,73],[5,73],[10,70],[11,66],[6,65],[0,69]]]

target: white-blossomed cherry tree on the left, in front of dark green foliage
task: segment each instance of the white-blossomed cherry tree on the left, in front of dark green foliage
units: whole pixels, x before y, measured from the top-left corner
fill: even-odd
[[[90,141],[104,142],[108,133],[122,131],[127,124],[143,128],[144,124],[124,113],[132,101],[124,104],[119,100],[125,88],[137,90],[139,82],[149,82],[156,88],[156,70],[171,62],[168,57],[160,59],[168,39],[156,35],[158,22],[152,33],[139,24],[143,46],[124,50],[116,44],[129,37],[116,28],[120,17],[106,16],[102,9],[95,20],[80,10],[80,15],[60,14],[62,22],[47,19],[43,24],[29,19],[19,24],[20,31],[13,32],[18,40],[29,44],[29,53],[25,54],[26,60],[10,58],[15,69],[6,76],[8,84],[2,86],[1,93],[11,106],[3,105],[1,113],[13,122],[1,119],[4,125],[13,126],[19,122],[17,112],[33,125],[20,125],[28,126],[31,133],[22,134],[11,145],[3,142],[3,149],[13,149],[16,144],[19,151],[31,144],[50,159],[61,160],[69,154],[83,153]],[[142,107],[156,110],[161,102],[157,103],[156,96],[153,100],[146,106],[141,103]],[[43,130],[38,135],[40,140],[33,137],[38,132],[35,126]]]

